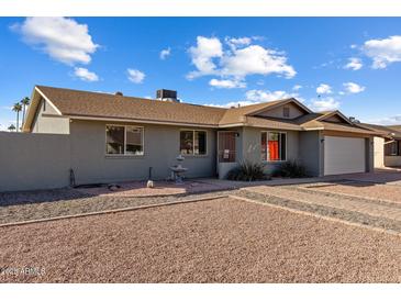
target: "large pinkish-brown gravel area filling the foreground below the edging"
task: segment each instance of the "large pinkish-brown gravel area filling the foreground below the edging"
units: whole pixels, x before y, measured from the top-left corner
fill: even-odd
[[[401,238],[219,199],[1,228],[29,282],[400,282]]]

